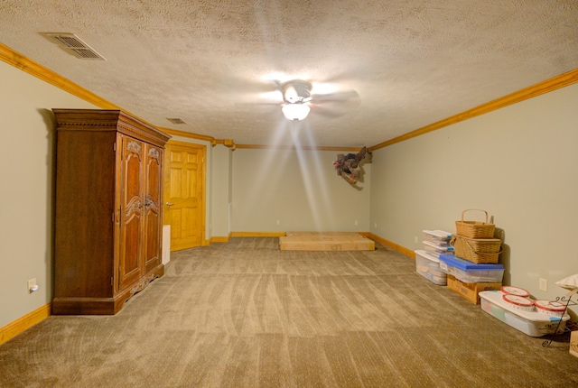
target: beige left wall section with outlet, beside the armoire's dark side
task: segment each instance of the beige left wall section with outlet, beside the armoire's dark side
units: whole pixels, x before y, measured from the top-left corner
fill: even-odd
[[[94,108],[0,61],[0,328],[52,298],[51,108]],[[36,278],[39,291],[27,292]]]

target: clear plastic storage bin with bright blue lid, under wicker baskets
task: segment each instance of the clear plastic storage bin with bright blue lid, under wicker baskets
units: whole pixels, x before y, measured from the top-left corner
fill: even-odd
[[[476,264],[453,254],[440,254],[440,268],[466,283],[500,283],[504,277],[502,264]]]

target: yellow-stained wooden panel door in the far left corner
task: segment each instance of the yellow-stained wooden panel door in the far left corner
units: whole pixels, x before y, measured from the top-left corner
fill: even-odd
[[[203,245],[205,152],[200,144],[166,144],[164,224],[171,226],[171,251]]]

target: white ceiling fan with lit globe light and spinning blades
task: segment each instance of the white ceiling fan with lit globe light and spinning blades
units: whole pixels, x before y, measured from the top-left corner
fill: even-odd
[[[281,106],[284,116],[293,121],[303,120],[312,111],[320,115],[343,115],[347,108],[359,105],[359,94],[355,90],[315,94],[312,82],[302,79],[275,81],[275,86],[282,94],[282,102],[254,104]]]

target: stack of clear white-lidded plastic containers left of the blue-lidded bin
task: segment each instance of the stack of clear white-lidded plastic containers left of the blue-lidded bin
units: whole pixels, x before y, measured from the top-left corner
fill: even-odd
[[[443,230],[424,230],[424,249],[415,251],[415,270],[438,285],[447,284],[447,275],[440,268],[440,254],[453,252],[452,234]]]

